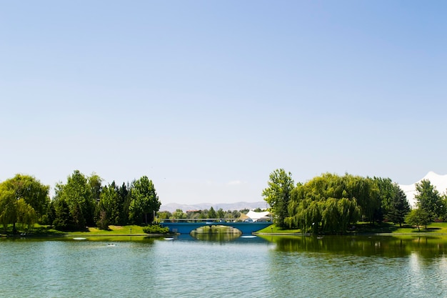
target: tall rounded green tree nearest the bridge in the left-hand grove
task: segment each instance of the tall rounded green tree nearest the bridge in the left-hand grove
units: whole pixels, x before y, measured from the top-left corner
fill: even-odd
[[[141,223],[141,219],[145,224],[153,222],[154,215],[159,211],[160,206],[161,202],[152,180],[143,176],[132,183],[129,212],[135,222]]]

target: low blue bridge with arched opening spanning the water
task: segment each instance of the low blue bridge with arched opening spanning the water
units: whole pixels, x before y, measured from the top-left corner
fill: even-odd
[[[179,234],[190,234],[199,227],[226,226],[233,227],[242,232],[242,234],[251,234],[264,229],[272,222],[231,222],[234,219],[171,219],[169,222],[161,222],[161,227],[168,227],[169,232]]]

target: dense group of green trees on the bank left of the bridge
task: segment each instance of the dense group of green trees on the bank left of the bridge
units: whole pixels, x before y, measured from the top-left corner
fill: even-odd
[[[58,183],[49,197],[49,186],[35,177],[16,174],[0,183],[0,225],[22,229],[40,224],[59,230],[107,229],[109,225],[149,224],[161,202],[154,183],[146,176],[130,184],[103,185],[97,174],[90,177],[78,170],[65,183]]]

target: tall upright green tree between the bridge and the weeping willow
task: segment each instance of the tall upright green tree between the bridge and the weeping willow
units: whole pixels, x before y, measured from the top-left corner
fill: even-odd
[[[291,173],[284,169],[276,169],[270,174],[268,187],[263,189],[264,200],[270,205],[274,222],[278,227],[286,227],[285,219],[288,217],[288,203],[293,189]]]

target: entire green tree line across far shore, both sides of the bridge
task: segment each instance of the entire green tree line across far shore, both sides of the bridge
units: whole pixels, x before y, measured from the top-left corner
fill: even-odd
[[[97,174],[90,177],[74,171],[58,183],[49,197],[49,186],[28,175],[0,183],[0,226],[16,231],[36,222],[59,230],[107,229],[109,225],[150,224],[159,219],[234,218],[241,211],[196,210],[159,212],[161,202],[154,183],[146,176],[121,185],[103,185]],[[270,205],[278,227],[311,233],[343,233],[358,221],[407,222],[426,226],[447,219],[447,195],[439,194],[428,180],[416,184],[416,208],[410,209],[405,193],[389,178],[351,174],[321,174],[295,184],[290,172],[276,169],[270,174],[263,197]],[[245,210],[248,212],[248,210]]]

